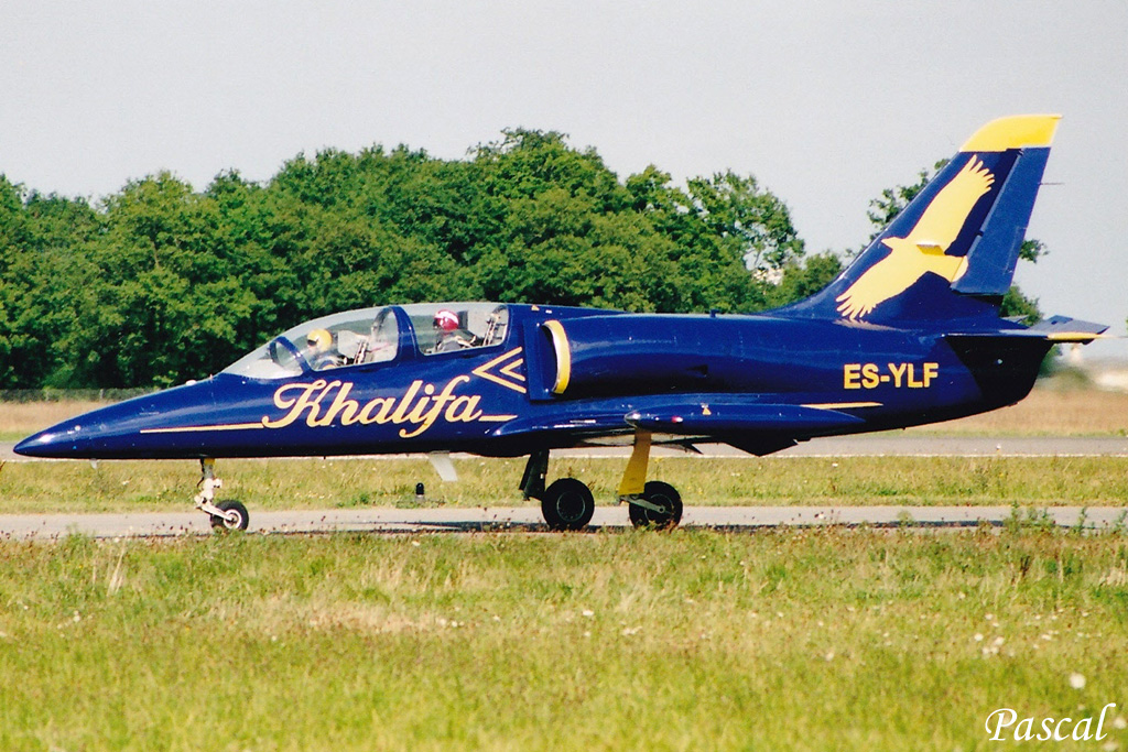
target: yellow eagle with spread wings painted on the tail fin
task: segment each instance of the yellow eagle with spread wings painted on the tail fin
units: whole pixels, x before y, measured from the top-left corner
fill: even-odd
[[[946,256],[971,209],[990,191],[995,176],[978,158],[972,158],[932,200],[906,238],[881,242],[890,254],[857,278],[835,299],[838,312],[849,319],[865,317],[878,304],[899,295],[926,272],[955,282],[968,269],[966,256]]]

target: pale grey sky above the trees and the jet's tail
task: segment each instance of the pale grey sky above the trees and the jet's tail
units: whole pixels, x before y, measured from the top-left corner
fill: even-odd
[[[528,127],[623,179],[754,175],[809,251],[857,247],[871,198],[987,121],[1059,113],[1028,233],[1049,255],[1016,281],[1125,334],[1123,0],[12,0],[0,56],[0,174],[42,193],[266,180],[326,148],[457,159]]]

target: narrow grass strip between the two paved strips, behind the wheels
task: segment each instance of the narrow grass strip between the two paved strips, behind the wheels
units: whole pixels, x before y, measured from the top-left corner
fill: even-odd
[[[423,481],[432,503],[509,506],[522,460],[456,460],[443,484],[426,460],[224,460],[222,498],[254,510],[411,506]],[[623,459],[553,460],[549,476],[591,486],[611,502]],[[1128,458],[662,458],[650,477],[677,486],[686,505],[1128,505]],[[186,511],[197,462],[9,462],[0,468],[0,514]]]

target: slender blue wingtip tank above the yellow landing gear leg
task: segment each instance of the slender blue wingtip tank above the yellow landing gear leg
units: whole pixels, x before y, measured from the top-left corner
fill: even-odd
[[[862,423],[862,418],[803,405],[682,402],[629,413],[626,422],[659,433],[719,435],[744,431],[808,433]]]

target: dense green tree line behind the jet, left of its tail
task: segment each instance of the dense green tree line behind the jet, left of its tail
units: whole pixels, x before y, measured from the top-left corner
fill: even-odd
[[[0,388],[168,386],[390,302],[757,311],[840,268],[804,255],[751,176],[620,180],[556,132],[506,131],[460,160],[326,150],[202,192],[160,172],[95,204],[0,175]]]

